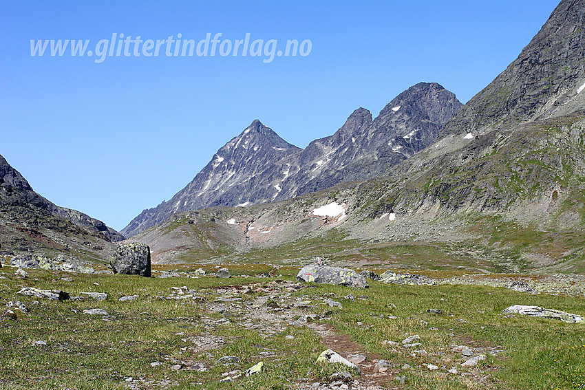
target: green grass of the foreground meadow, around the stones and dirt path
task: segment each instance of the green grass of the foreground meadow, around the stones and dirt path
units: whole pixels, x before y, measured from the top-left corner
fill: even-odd
[[[242,264],[229,267],[236,274],[268,270],[262,264],[250,268]],[[296,273],[293,268],[278,271],[289,280]],[[238,314],[204,310],[206,303],[222,296],[217,288],[250,283],[268,287],[273,278],[154,279],[30,270],[28,279],[14,279],[13,272],[8,267],[0,270],[8,278],[0,279],[0,303],[19,299],[31,312],[22,314],[15,310],[17,320],[0,319],[2,389],[125,389],[128,377],[143,377],[156,383],[168,380],[173,389],[294,389],[299,378],[305,378],[304,383],[310,384],[322,381],[340,368],[315,364],[326,346],[308,327],[290,325],[274,336],[265,337],[256,329],[242,326],[244,318]],[[62,281],[61,277],[73,277],[74,281]],[[61,289],[72,295],[96,291],[109,296],[103,302],[39,300],[34,304],[34,299],[16,294],[28,285]],[[171,287],[182,285],[198,290],[203,302],[159,298],[168,296]],[[352,290],[312,284],[293,293],[290,299],[309,299],[314,303],[315,314],[329,309],[319,304],[323,297],[340,301],[343,308],[334,309],[330,318],[323,321],[334,325],[339,334],[348,335],[356,350],[391,362],[394,367],[387,387],[396,386],[392,381],[394,375],[407,377],[401,389],[585,387],[585,325],[502,314],[504,307],[513,304],[585,314],[583,299],[467,285],[400,286],[375,282],[370,285],[368,290]],[[365,298],[352,301],[343,298],[350,293]],[[120,296],[131,294],[140,298],[118,301]],[[242,294],[241,304],[245,307],[264,294],[262,290]],[[113,321],[83,314],[83,310],[94,307],[109,312]],[[440,309],[443,314],[429,314],[428,309]],[[210,318],[222,317],[229,318],[231,323],[207,327]],[[190,349],[193,346],[190,339],[202,334],[213,334],[225,343],[207,351]],[[284,337],[289,334],[295,338]],[[408,349],[397,347],[393,351],[383,344],[383,340],[400,342],[409,334],[421,336],[421,348],[428,356],[413,358]],[[37,340],[44,340],[47,345],[34,346]],[[486,348],[488,358],[476,369],[463,369],[462,356],[451,351],[452,345]],[[489,356],[492,347],[500,353]],[[275,351],[275,356],[262,356],[262,351]],[[240,363],[233,367],[213,365],[221,356],[238,356]],[[171,360],[167,359],[200,362],[209,371],[173,371],[169,369]],[[235,368],[244,371],[259,360],[266,363],[263,373],[237,379],[232,384],[218,382],[222,373]],[[151,367],[150,363],[155,361],[164,364]],[[401,370],[405,363],[412,369]],[[444,369],[429,371],[423,367],[425,364],[446,369],[457,367],[458,371],[470,375],[447,375]],[[483,376],[487,376],[486,382],[479,383]],[[138,387],[143,388],[140,384]]]

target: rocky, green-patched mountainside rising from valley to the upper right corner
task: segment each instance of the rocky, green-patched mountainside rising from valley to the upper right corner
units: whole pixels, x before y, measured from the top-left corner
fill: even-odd
[[[520,57],[445,124],[443,138],[387,177],[179,213],[135,239],[162,263],[325,254],[360,264],[585,272],[584,15],[585,0],[562,1]]]

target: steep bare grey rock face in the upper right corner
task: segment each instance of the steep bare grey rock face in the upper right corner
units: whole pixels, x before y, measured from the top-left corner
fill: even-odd
[[[585,103],[585,0],[564,0],[520,56],[474,96],[441,136],[564,116]]]

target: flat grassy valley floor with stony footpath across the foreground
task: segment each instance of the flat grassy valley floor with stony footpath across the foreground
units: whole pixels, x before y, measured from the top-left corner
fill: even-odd
[[[0,269],[0,303],[18,300],[30,311],[12,306],[13,315],[6,311],[0,319],[2,389],[585,387],[583,323],[502,312],[521,304],[585,314],[582,292],[562,295],[571,291],[558,285],[551,290],[556,295],[530,294],[471,284],[487,276],[468,275],[438,285],[370,281],[369,289],[356,290],[299,283],[292,267],[280,268],[275,277],[253,276],[272,271],[268,266],[235,271],[240,275],[231,279],[42,270],[26,270],[23,278],[15,271]],[[489,278],[523,288],[547,283]],[[84,297],[38,299],[18,294],[23,287]],[[81,292],[105,293],[107,299]],[[89,314],[96,308],[105,312]],[[405,346],[403,340],[415,335]],[[356,362],[361,375],[317,363],[326,349]],[[462,365],[478,356],[485,360]],[[259,362],[262,372],[246,376]],[[334,376],[339,371],[351,378]]]

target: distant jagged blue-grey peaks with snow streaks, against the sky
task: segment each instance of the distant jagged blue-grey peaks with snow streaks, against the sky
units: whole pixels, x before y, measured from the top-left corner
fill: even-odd
[[[349,181],[379,177],[432,144],[462,104],[436,83],[418,83],[372,120],[357,109],[332,136],[299,149],[255,120],[222,147],[168,202],[144,210],[122,230],[131,237],[173,213],[209,206],[250,206]]]

